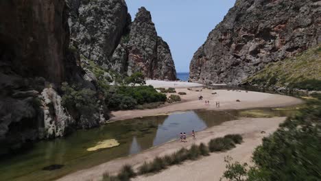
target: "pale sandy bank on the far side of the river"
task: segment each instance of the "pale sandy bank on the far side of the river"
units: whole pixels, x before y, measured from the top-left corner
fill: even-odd
[[[136,117],[149,117],[157,114],[169,114],[170,112],[186,110],[240,110],[248,108],[293,106],[303,103],[301,99],[296,97],[246,90],[236,91],[211,90],[202,88],[176,88],[176,93],[179,92],[187,93],[187,95],[180,95],[182,99],[180,102],[174,104],[165,104],[165,106],[160,106],[159,108],[150,110],[121,110],[111,112],[112,117],[110,121],[132,119]],[[203,100],[201,101],[198,100],[200,95],[203,97]],[[209,100],[210,104],[205,104],[205,100]],[[216,107],[216,101],[219,101],[220,103],[219,108]]]

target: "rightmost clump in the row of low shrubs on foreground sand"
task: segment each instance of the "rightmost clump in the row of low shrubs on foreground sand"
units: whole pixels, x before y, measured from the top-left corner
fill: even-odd
[[[209,142],[209,150],[211,152],[221,152],[235,147],[231,138],[214,138]]]

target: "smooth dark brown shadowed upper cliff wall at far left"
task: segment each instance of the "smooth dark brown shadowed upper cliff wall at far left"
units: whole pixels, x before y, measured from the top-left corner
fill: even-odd
[[[0,5],[1,68],[61,82],[69,47],[64,1],[3,0]]]

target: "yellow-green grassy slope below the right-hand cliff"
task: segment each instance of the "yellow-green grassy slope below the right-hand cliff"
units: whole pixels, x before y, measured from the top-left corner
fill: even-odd
[[[321,90],[321,45],[293,58],[270,63],[243,82],[252,86]]]

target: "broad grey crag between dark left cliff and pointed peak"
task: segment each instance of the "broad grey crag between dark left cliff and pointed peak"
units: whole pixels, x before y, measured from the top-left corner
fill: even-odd
[[[68,0],[73,45],[83,56],[108,67],[121,36],[131,22],[125,1]]]

